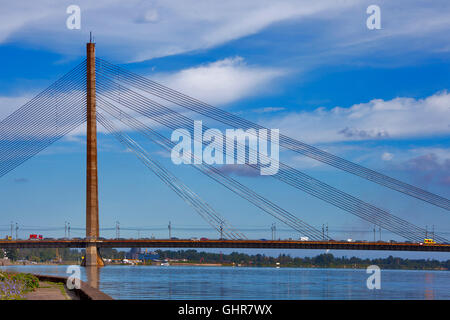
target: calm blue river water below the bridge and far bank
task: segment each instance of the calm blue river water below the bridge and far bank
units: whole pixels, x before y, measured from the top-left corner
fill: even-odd
[[[67,266],[0,270],[68,276]],[[369,290],[365,269],[188,266],[81,268],[81,279],[115,299],[450,299],[450,271],[381,270]]]

